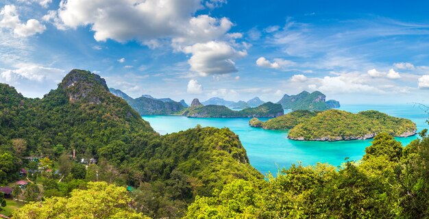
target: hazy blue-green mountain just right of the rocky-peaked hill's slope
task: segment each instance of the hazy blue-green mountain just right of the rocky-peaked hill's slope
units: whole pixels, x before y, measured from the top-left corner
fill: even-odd
[[[180,112],[188,107],[184,100],[176,102],[170,98],[156,99],[149,94],[132,99],[132,97],[121,90],[114,88],[109,88],[109,90],[115,96],[119,96],[127,101],[140,115],[169,115]]]

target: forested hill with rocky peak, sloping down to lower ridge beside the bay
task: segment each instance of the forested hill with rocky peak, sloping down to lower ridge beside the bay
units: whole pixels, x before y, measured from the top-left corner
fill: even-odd
[[[177,217],[196,195],[209,195],[234,179],[262,179],[229,129],[197,127],[160,136],[109,92],[104,79],[85,70],[72,70],[42,99],[27,99],[0,84],[0,134],[0,157],[10,160],[0,164],[0,185],[18,180],[21,168],[34,168],[28,156],[49,158],[64,175],[61,185],[36,200],[67,196],[71,190],[64,188],[99,179],[142,190],[134,198],[140,206],[151,205],[139,210],[148,216]],[[81,158],[98,162],[86,170]]]

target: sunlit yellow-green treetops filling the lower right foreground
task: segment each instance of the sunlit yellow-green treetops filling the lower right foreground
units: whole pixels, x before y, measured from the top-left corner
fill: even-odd
[[[360,162],[293,165],[197,197],[185,218],[428,218],[429,138],[403,147],[380,133]]]

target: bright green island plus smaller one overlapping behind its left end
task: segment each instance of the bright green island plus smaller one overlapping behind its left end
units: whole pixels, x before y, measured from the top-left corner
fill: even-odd
[[[353,114],[343,110],[310,112],[294,111],[262,122],[257,118],[249,121],[252,127],[263,129],[290,129],[288,138],[300,141],[365,140],[378,133],[395,137],[415,135],[415,123],[406,118],[396,118],[376,110]]]

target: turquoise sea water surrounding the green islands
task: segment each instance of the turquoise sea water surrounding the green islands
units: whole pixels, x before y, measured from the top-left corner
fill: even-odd
[[[415,105],[343,105],[339,110],[360,112],[378,110],[391,116],[409,118],[417,124],[418,131],[429,128],[428,115]],[[285,112],[286,113],[286,112]],[[250,164],[266,174],[276,173],[278,168],[289,168],[302,162],[313,165],[317,162],[339,166],[345,157],[358,161],[371,140],[341,142],[299,142],[286,138],[288,131],[265,130],[249,127],[250,118],[186,118],[184,116],[143,116],[161,134],[173,133],[201,125],[203,127],[228,127],[240,137],[247,151]],[[261,120],[267,120],[262,118]],[[397,138],[405,146],[417,136]]]

